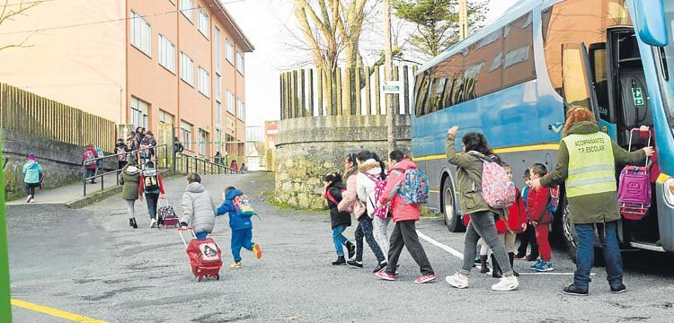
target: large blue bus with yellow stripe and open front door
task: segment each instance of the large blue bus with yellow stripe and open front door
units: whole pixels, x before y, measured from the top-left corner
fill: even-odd
[[[528,165],[554,169],[564,112],[583,106],[625,147],[630,129],[654,129],[661,175],[652,207],[641,221],[622,221],[620,239],[625,248],[674,252],[673,25],[670,0],[525,0],[421,66],[412,155],[448,229],[462,229],[448,127],[486,135],[521,188]],[[574,249],[566,209],[555,224]]]

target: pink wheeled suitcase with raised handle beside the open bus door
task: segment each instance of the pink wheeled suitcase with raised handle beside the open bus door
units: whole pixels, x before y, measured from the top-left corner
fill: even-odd
[[[630,144],[627,150],[632,149],[632,135],[630,131]],[[648,145],[651,145],[651,134],[648,136]],[[651,174],[649,170],[649,158],[643,166],[629,165],[620,171],[618,186],[618,204],[620,213],[625,220],[641,220],[651,207]]]

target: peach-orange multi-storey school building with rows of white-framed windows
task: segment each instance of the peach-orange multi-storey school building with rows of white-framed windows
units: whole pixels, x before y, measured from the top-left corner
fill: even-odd
[[[2,82],[129,128],[173,125],[187,153],[245,154],[254,48],[219,0],[24,3],[0,30],[0,47],[21,45],[0,51]]]

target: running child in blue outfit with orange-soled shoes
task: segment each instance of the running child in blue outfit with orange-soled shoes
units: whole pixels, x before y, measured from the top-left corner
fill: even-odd
[[[248,196],[234,188],[225,188],[225,201],[217,208],[217,215],[229,215],[229,228],[232,229],[232,256],[234,263],[230,268],[241,268],[241,248],[253,251],[255,258],[262,258],[262,248],[253,242],[253,221],[256,215]]]

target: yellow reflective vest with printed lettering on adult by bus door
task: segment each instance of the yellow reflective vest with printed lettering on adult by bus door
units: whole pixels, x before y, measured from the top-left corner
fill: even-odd
[[[611,138],[607,134],[573,134],[565,136],[562,141],[569,151],[567,196],[616,191],[616,165]]]

